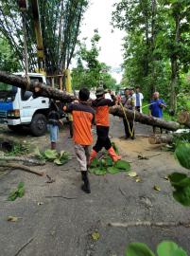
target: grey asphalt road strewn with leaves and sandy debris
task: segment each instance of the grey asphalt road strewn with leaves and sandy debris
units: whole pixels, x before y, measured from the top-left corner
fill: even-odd
[[[150,133],[149,127],[136,125],[137,134]],[[113,118],[112,137],[122,134],[121,120]],[[4,131],[1,135],[26,139],[41,148],[49,144],[47,136],[36,139]],[[146,137],[137,137],[134,141],[114,139],[120,141],[121,154],[131,162],[131,169],[139,174],[142,182],[124,173],[90,174],[92,193],[84,194],[80,191],[76,158],[61,167],[48,163],[43,168],[36,168],[54,178],[56,181],[52,184],[46,183],[45,175],[39,177],[19,170],[0,175],[1,256],[123,256],[130,242],[147,243],[156,251],[156,245],[163,240],[178,243],[190,255],[187,228],[121,227],[121,224],[138,221],[189,222],[189,208],[173,199],[172,188],[164,179],[166,174],[185,170],[173,155],[162,152],[161,147],[148,148]],[[60,133],[59,147],[74,155],[66,127]],[[141,153],[155,156],[138,160],[137,155]],[[9,192],[20,181],[25,182],[25,196],[14,202],[7,201]],[[154,191],[154,185],[158,185],[161,192]],[[19,220],[8,222],[9,215]],[[118,227],[111,227],[110,223]],[[91,234],[96,230],[100,238],[94,241]]]

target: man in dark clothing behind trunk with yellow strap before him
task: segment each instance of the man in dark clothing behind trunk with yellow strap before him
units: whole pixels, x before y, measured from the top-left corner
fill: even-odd
[[[122,98],[121,102],[124,107],[133,110],[134,101],[130,96],[130,89],[125,89],[125,96]],[[126,117],[124,117],[123,122],[125,128],[125,138],[128,139],[130,137],[131,139],[134,139],[134,121],[126,119]]]

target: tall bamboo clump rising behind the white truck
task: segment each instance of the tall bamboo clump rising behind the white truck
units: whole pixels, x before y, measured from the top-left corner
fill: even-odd
[[[62,70],[69,66],[87,4],[87,0],[39,0],[44,66],[47,74],[62,73]],[[30,1],[25,15],[28,63],[30,71],[34,71],[38,67],[38,61]],[[0,31],[24,66],[22,13],[17,1],[1,0]]]

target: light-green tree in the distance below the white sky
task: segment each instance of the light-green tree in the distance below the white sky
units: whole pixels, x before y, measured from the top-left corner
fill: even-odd
[[[98,61],[100,36],[95,29],[91,39],[90,49],[86,46],[86,39],[78,44],[77,67],[72,70],[72,82],[76,89],[82,86],[95,88],[103,85],[105,88],[114,88],[116,81],[109,73],[110,67]]]

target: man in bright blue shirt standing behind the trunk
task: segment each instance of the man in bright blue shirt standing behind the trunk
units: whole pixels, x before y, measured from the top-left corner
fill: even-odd
[[[159,92],[153,93],[152,100],[150,101],[149,105],[149,115],[157,118],[157,119],[163,119],[163,109],[166,107],[165,102],[159,98]],[[156,133],[156,126],[153,126],[153,133]],[[161,134],[163,133],[163,129],[160,128]]]

